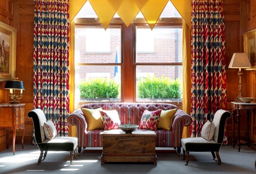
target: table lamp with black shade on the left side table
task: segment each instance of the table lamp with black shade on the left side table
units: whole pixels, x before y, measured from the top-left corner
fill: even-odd
[[[13,101],[11,101],[10,103],[11,104],[18,104],[19,101],[16,101],[16,99],[21,99],[21,97],[23,96],[22,90],[25,89],[24,85],[23,85],[23,81],[7,80],[4,88],[10,90],[9,96],[11,97],[11,99],[13,99]],[[16,89],[20,90],[20,96],[15,95],[15,90]]]

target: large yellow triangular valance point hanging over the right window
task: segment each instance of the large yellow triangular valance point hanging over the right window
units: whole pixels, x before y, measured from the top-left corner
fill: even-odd
[[[135,0],[151,30],[169,0]]]

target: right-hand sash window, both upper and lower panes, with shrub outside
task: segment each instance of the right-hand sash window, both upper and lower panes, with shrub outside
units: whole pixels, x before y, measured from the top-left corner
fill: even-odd
[[[182,101],[182,28],[136,24],[135,32],[136,101]]]

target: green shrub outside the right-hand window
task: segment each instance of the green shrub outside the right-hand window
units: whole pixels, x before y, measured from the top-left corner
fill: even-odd
[[[137,82],[137,91],[139,98],[181,98],[182,90],[178,79],[148,76]]]

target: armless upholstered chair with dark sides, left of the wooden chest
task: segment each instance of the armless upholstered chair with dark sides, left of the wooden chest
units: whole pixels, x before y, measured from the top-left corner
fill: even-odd
[[[46,123],[44,112],[40,109],[35,109],[28,112],[28,117],[33,120],[35,140],[40,149],[38,165],[40,164],[42,157],[44,157],[43,160],[46,158],[48,151],[69,151],[70,164],[74,165],[73,156],[76,157],[77,137],[62,136],[54,137],[52,140],[47,139],[43,130],[44,123]]]

